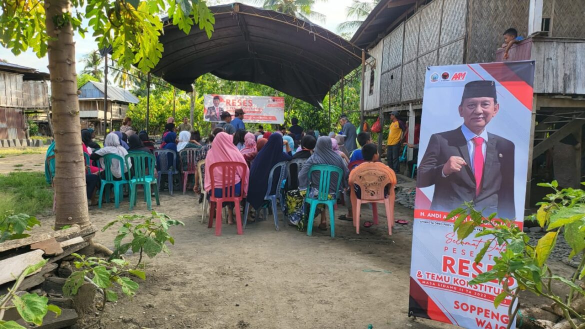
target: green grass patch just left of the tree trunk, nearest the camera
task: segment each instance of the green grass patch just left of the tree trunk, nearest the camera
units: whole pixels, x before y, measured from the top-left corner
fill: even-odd
[[[34,216],[52,205],[53,189],[44,180],[44,173],[0,174],[0,213],[12,210]]]

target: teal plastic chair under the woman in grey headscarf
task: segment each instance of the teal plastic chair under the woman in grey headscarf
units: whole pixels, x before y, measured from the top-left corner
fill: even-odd
[[[305,196],[305,203],[308,203],[311,208],[309,210],[309,222],[307,227],[307,235],[310,237],[313,232],[313,222],[315,217],[315,210],[318,204],[325,204],[329,207],[329,221],[331,222],[331,237],[335,238],[335,204],[337,203],[337,194],[339,186],[341,184],[341,178],[343,177],[343,170],[336,166],[330,165],[312,165],[309,168],[309,182],[311,181],[311,174],[313,172],[319,172],[319,193],[316,198],[309,197],[311,191],[311,184],[307,188],[307,196]],[[329,183],[333,179],[332,174],[337,173],[337,184],[335,187],[335,196],[329,200]]]

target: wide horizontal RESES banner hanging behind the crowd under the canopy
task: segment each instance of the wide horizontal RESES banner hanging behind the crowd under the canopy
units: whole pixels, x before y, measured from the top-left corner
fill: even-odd
[[[236,109],[241,108],[245,123],[284,123],[284,97],[213,94],[204,95],[203,102],[205,121],[221,121],[221,112],[233,115]]]

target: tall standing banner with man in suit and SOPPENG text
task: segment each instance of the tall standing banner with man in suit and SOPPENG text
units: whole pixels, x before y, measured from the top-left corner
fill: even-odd
[[[428,67],[422,103],[409,314],[464,328],[503,329],[497,282],[469,285],[502,251],[476,254],[491,237],[457,241],[446,215],[465,201],[522,227],[534,62]],[[514,285],[513,282],[510,282]],[[515,325],[512,325],[515,328]]]

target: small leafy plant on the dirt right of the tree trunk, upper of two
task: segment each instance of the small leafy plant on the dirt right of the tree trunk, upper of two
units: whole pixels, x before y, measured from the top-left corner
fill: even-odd
[[[115,224],[121,224],[118,228],[118,235],[113,241],[114,250],[109,259],[119,258],[129,249],[132,252],[140,252],[140,257],[136,267],[142,262],[142,253],[146,253],[149,258],[153,258],[161,251],[170,254],[165,243],[168,241],[175,244],[175,240],[168,234],[168,228],[171,226],[184,226],[183,222],[171,220],[166,214],[159,214],[153,211],[150,217],[145,215],[123,215],[118,216],[115,221],[109,222],[102,228],[102,232]],[[122,241],[128,237],[132,241],[122,244]]]

